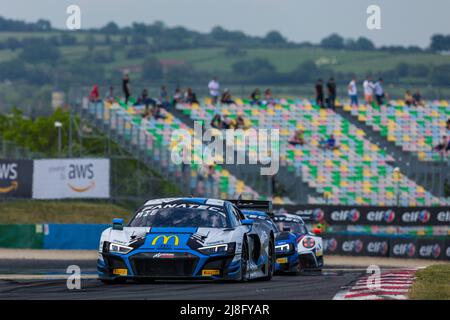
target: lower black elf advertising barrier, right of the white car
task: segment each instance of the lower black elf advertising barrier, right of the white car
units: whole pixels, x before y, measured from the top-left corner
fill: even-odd
[[[326,255],[450,260],[449,237],[323,235]]]

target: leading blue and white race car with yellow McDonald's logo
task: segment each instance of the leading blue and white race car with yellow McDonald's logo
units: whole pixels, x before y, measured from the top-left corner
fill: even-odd
[[[270,280],[274,233],[229,201],[147,201],[128,225],[114,219],[100,239],[97,270],[106,283],[153,279]]]

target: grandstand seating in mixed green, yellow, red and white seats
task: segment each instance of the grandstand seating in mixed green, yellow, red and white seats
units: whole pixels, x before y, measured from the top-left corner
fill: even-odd
[[[280,99],[273,105],[252,105],[246,99],[236,99],[236,104],[217,106],[205,99],[201,104],[178,104],[170,112],[164,110],[163,118],[159,119],[143,119],[143,107],[134,106],[133,102],[128,105],[120,100],[113,104],[90,104],[89,110],[90,114],[95,113],[97,121],[123,136],[131,146],[144,150],[147,157],[169,172],[175,181],[183,181],[185,190],[191,194],[221,198],[245,194],[257,199],[272,198],[270,190],[258,188],[251,181],[250,177],[256,173],[250,169],[232,172],[230,168],[215,165],[212,180],[208,181],[198,165],[186,167],[171,162],[173,130],[182,128],[192,132],[193,121],[202,121],[208,127],[215,114],[228,115],[231,119],[242,114],[251,127],[280,130],[278,179],[285,185],[292,185],[289,182],[293,177],[303,182],[309,193],[308,203],[391,206],[449,203],[448,199],[428,190],[402,170],[397,173],[395,167],[399,159],[368,139],[361,127],[338,112],[321,109],[306,99]],[[415,152],[421,160],[436,161],[431,148],[442,135],[448,117],[446,106],[446,101],[433,101],[429,108],[408,109],[397,102],[394,107],[344,105],[343,110],[356,115],[358,121],[379,131],[382,137],[404,152]],[[288,144],[295,130],[304,131],[304,146]],[[320,139],[331,134],[336,137],[339,149],[321,149]],[[299,202],[296,192],[303,193],[304,189],[290,190],[286,196],[273,197],[273,200],[275,203]]]

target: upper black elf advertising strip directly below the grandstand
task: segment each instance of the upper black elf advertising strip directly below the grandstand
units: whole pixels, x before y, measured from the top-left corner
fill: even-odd
[[[330,225],[450,225],[450,207],[372,207],[285,205],[274,212],[287,211],[312,222],[326,221]]]

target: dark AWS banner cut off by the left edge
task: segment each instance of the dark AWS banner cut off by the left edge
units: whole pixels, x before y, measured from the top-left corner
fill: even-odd
[[[0,159],[0,198],[31,198],[32,160]]]

